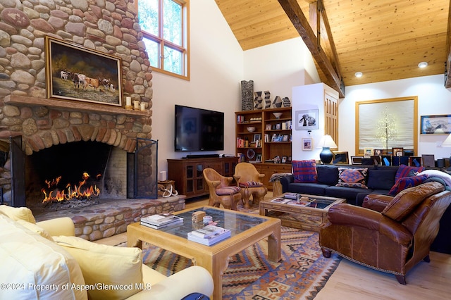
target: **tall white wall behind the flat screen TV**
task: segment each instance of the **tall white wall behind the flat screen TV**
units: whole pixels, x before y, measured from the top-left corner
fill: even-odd
[[[213,0],[190,1],[190,58],[190,81],[153,72],[152,139],[159,140],[159,171],[168,169],[168,158],[199,154],[174,151],[175,104],[223,112],[225,149],[206,153],[235,154],[243,51]]]

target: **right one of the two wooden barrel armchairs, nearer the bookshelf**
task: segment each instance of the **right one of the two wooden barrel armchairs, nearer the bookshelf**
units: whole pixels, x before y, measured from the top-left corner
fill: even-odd
[[[263,185],[261,179],[264,174],[252,165],[252,163],[238,163],[235,166],[235,175],[233,177],[238,182],[238,187],[241,188],[242,201],[245,208],[249,208],[249,198],[252,195],[252,202],[260,203],[264,199],[268,189]]]

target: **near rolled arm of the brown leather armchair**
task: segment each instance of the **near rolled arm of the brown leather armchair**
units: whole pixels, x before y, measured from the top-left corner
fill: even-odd
[[[393,242],[410,246],[412,233],[402,223],[398,223],[378,211],[354,206],[351,204],[335,204],[328,211],[328,220],[332,225],[345,225],[349,227],[362,227],[367,230],[380,232]]]

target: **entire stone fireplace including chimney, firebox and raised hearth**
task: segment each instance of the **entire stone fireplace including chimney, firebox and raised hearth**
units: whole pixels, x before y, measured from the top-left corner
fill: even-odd
[[[130,96],[132,101],[144,103],[145,111],[47,99],[46,35],[120,58],[123,97]],[[20,137],[20,144],[13,147],[24,156],[14,158],[16,170],[11,169],[13,159],[0,165],[3,199],[11,204],[12,199],[22,196],[24,201],[30,198],[32,203],[39,202],[42,195],[34,194],[39,194],[39,181],[47,176],[40,171],[52,165],[43,164],[44,158],[40,156],[49,151],[46,155],[56,160],[56,156],[63,154],[63,161],[58,158],[53,164],[61,170],[61,165],[63,168],[70,165],[65,161],[64,154],[69,151],[65,147],[85,143],[92,148],[75,152],[84,152],[85,157],[94,152],[108,152],[102,158],[94,156],[101,165],[99,168],[104,169],[97,182],[104,189],[104,196],[130,201],[126,206],[110,202],[90,211],[65,213],[73,219],[77,235],[91,240],[107,237],[125,231],[126,224],[136,222],[140,215],[183,208],[184,200],[178,197],[158,203],[130,199],[130,194],[136,195],[137,189],[149,186],[149,182],[132,178],[138,183],[130,189],[127,174],[133,174],[143,165],[146,172],[156,172],[156,165],[147,158],[149,148],[144,147],[139,156],[136,154],[137,141],[152,140],[152,94],[152,68],[133,0],[1,1],[0,146]],[[97,146],[92,146],[94,144]],[[4,153],[1,149],[0,154]],[[37,168],[39,172],[29,168]],[[97,170],[89,172],[97,173]],[[22,173],[23,177],[28,176],[27,184],[17,180]],[[76,177],[80,170],[74,173]],[[89,178],[94,176],[89,175]],[[22,194],[11,192],[14,189]],[[108,212],[107,207],[112,212]]]

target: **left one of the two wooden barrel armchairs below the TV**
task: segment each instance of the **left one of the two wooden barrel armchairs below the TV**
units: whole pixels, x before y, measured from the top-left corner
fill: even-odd
[[[237,203],[241,201],[240,187],[230,185],[233,177],[224,177],[211,168],[205,168],[204,180],[209,187],[209,206],[219,207],[220,204],[227,209],[237,210]]]

